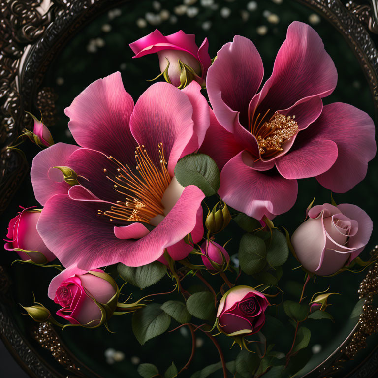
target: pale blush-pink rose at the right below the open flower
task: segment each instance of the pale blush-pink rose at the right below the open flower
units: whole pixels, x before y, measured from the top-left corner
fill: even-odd
[[[302,266],[319,276],[331,275],[349,264],[372,234],[372,220],[355,205],[325,203],[314,206],[308,215],[294,231],[291,244]]]

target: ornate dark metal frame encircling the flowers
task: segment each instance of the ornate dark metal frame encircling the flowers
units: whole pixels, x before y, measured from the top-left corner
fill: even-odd
[[[378,51],[371,33],[378,34],[378,0],[298,0],[318,11],[347,39],[357,55],[371,87],[378,116]],[[8,149],[23,127],[32,120],[26,109],[31,99],[44,114],[47,125],[54,123],[56,96],[52,88],[40,88],[50,63],[64,44],[99,13],[126,0],[2,0],[0,1],[0,213],[28,172],[28,164],[17,150]],[[377,117],[378,118],[378,117]],[[376,254],[378,246],[373,252]],[[23,339],[12,320],[7,303],[10,279],[0,266],[0,338],[23,369],[37,378],[63,377]],[[366,337],[378,329],[378,265],[371,268],[360,285],[367,298],[363,314],[347,340],[308,377],[331,377],[343,361],[352,358],[366,344]],[[49,324],[34,330],[35,339],[51,350],[66,370],[64,377],[85,377],[86,367],[65,350]],[[353,378],[376,377],[378,351],[350,373]],[[93,372],[91,372],[93,374]]]

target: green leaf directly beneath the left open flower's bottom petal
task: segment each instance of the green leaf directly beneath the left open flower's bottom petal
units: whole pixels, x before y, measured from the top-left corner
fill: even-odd
[[[167,272],[167,267],[161,262],[154,261],[151,264],[133,268],[122,263],[117,265],[119,275],[128,283],[144,289],[156,284]]]

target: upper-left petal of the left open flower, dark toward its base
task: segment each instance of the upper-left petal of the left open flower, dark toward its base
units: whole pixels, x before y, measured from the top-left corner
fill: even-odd
[[[121,73],[115,72],[89,85],[64,113],[77,144],[123,159],[125,151],[135,149],[129,129],[133,107]]]

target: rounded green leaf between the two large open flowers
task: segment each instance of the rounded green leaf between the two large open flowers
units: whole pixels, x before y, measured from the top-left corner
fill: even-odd
[[[190,154],[180,159],[175,167],[177,181],[183,186],[195,185],[206,197],[217,194],[221,175],[215,161],[205,154]]]

